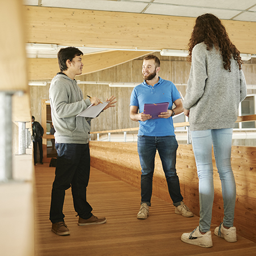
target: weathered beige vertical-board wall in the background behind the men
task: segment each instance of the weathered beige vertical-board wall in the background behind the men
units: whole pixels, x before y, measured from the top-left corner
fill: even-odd
[[[187,84],[190,63],[184,57],[164,57],[155,53],[161,60],[160,77],[171,80],[174,84]],[[84,68],[89,63],[84,63]],[[107,82],[142,82],[141,76],[142,58],[129,61],[125,64],[105,69],[104,71],[77,76],[81,81],[107,81]],[[256,59],[251,59],[243,64],[247,84],[256,84]],[[138,127],[137,122],[131,121],[129,117],[130,94],[133,88],[110,88],[108,85],[80,84],[84,94],[97,96],[105,100],[109,96],[117,97],[115,108],[102,113],[100,117],[93,119],[92,131],[122,129]],[[177,86],[177,89],[185,95],[185,86]],[[41,100],[48,98],[49,84],[47,86],[31,86],[31,113],[36,121],[41,122]],[[253,90],[249,90],[253,93]]]

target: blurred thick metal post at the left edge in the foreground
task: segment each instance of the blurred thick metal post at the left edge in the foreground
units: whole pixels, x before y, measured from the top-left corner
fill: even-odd
[[[0,92],[0,181],[4,182],[13,179],[12,96]]]

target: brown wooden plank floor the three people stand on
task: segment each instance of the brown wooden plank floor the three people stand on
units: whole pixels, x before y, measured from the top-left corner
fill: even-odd
[[[138,220],[139,189],[95,168],[91,169],[88,201],[94,215],[107,218],[106,224],[78,226],[71,189],[68,189],[64,214],[71,235],[56,236],[51,232],[49,221],[55,168],[48,166],[47,163],[35,166],[36,256],[256,255],[256,243],[240,236],[236,243],[228,243],[214,236],[214,225],[211,229],[213,247],[202,248],[181,242],[181,234],[192,232],[199,217],[185,218],[175,214],[170,203],[155,196],[152,196],[150,217]]]

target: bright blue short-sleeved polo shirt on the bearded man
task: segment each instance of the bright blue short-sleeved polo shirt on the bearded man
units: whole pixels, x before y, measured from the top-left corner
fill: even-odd
[[[141,113],[145,103],[169,102],[168,109],[172,109],[173,102],[179,98],[180,93],[174,83],[159,77],[158,83],[154,86],[148,85],[146,81],[137,85],[131,93],[130,106],[138,106],[139,113]],[[142,135],[152,137],[175,136],[172,117],[139,121],[138,136]]]

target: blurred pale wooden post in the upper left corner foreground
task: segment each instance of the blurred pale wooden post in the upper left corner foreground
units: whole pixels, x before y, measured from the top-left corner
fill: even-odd
[[[22,1],[0,1],[0,90],[27,92]]]

